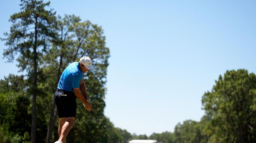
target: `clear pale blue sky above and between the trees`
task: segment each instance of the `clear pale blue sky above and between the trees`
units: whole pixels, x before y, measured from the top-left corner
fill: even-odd
[[[19,0],[2,1],[0,37]],[[105,115],[115,127],[151,135],[199,121],[201,98],[226,70],[256,72],[256,1],[54,0],[57,15],[74,14],[104,30],[110,49]],[[17,62],[2,59],[3,79]],[[90,55],[88,55],[90,56]],[[89,90],[89,89],[88,89]],[[93,109],[93,105],[92,105]]]

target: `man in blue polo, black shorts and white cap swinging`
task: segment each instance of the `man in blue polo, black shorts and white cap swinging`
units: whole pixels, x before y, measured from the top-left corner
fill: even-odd
[[[61,74],[54,94],[59,114],[59,140],[55,143],[66,143],[66,137],[75,123],[76,98],[83,102],[88,111],[91,111],[91,105],[87,101],[83,73],[92,69],[92,60],[84,56],[78,62],[69,64]]]

